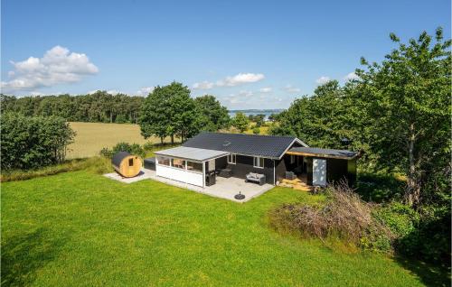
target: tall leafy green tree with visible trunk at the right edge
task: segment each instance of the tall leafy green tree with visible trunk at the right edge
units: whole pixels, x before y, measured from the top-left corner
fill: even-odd
[[[370,118],[373,153],[407,174],[406,202],[419,206],[428,178],[450,159],[451,41],[441,28],[435,42],[427,32],[408,43],[391,33],[391,40],[399,47],[381,64],[362,59],[357,103]]]

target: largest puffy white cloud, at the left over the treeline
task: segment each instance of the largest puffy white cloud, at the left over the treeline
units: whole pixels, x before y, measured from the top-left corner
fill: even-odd
[[[64,83],[75,83],[83,76],[96,74],[98,67],[89,61],[86,54],[70,52],[55,46],[42,58],[30,57],[23,61],[10,61],[14,70],[8,72],[9,81],[2,81],[2,90],[32,90],[52,87]]]

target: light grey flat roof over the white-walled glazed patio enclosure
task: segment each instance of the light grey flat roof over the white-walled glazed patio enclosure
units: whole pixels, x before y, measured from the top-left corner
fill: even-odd
[[[171,149],[155,152],[156,155],[184,159],[192,162],[207,162],[230,154],[215,150],[199,149],[188,146],[178,146]]]

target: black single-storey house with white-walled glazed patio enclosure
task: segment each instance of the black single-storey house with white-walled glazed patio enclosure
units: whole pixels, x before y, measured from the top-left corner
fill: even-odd
[[[201,133],[182,146],[155,152],[155,162],[145,160],[145,167],[155,169],[156,176],[202,188],[215,184],[217,176],[247,180],[250,172],[273,185],[287,174],[310,186],[342,179],[353,185],[356,155],[311,148],[294,136]]]

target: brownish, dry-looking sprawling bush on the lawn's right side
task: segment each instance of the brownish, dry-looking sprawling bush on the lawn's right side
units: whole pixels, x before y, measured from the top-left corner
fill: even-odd
[[[275,209],[270,215],[271,225],[322,241],[337,237],[365,249],[391,249],[391,231],[372,217],[372,205],[345,185],[329,187],[325,195],[327,200],[321,207],[295,203]]]

